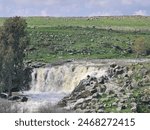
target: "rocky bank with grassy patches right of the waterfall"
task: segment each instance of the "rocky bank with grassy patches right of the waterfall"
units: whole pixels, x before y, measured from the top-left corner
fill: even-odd
[[[58,106],[75,112],[150,112],[149,63],[111,64],[106,73],[87,75]]]

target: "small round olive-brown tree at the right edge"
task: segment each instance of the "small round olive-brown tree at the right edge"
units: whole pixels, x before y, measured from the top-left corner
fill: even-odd
[[[137,54],[137,57],[139,55],[147,55],[150,50],[150,45],[143,37],[139,37],[135,40],[133,44],[133,50]]]

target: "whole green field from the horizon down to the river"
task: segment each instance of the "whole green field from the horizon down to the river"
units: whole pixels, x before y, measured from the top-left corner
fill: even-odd
[[[27,17],[31,43],[27,60],[135,58],[134,41],[150,43],[150,17]],[[5,18],[0,18],[0,25]],[[144,56],[145,57],[145,56]],[[149,57],[149,56],[146,56]]]

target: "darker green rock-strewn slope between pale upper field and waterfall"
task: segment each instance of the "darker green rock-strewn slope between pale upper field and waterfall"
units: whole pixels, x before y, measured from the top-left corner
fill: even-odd
[[[149,32],[124,32],[83,27],[39,27],[29,29],[31,45],[27,59],[55,62],[66,59],[131,58],[134,41]]]

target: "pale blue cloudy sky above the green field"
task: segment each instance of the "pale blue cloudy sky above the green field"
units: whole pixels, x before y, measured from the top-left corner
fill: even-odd
[[[0,17],[150,15],[150,0],[0,0]]]

